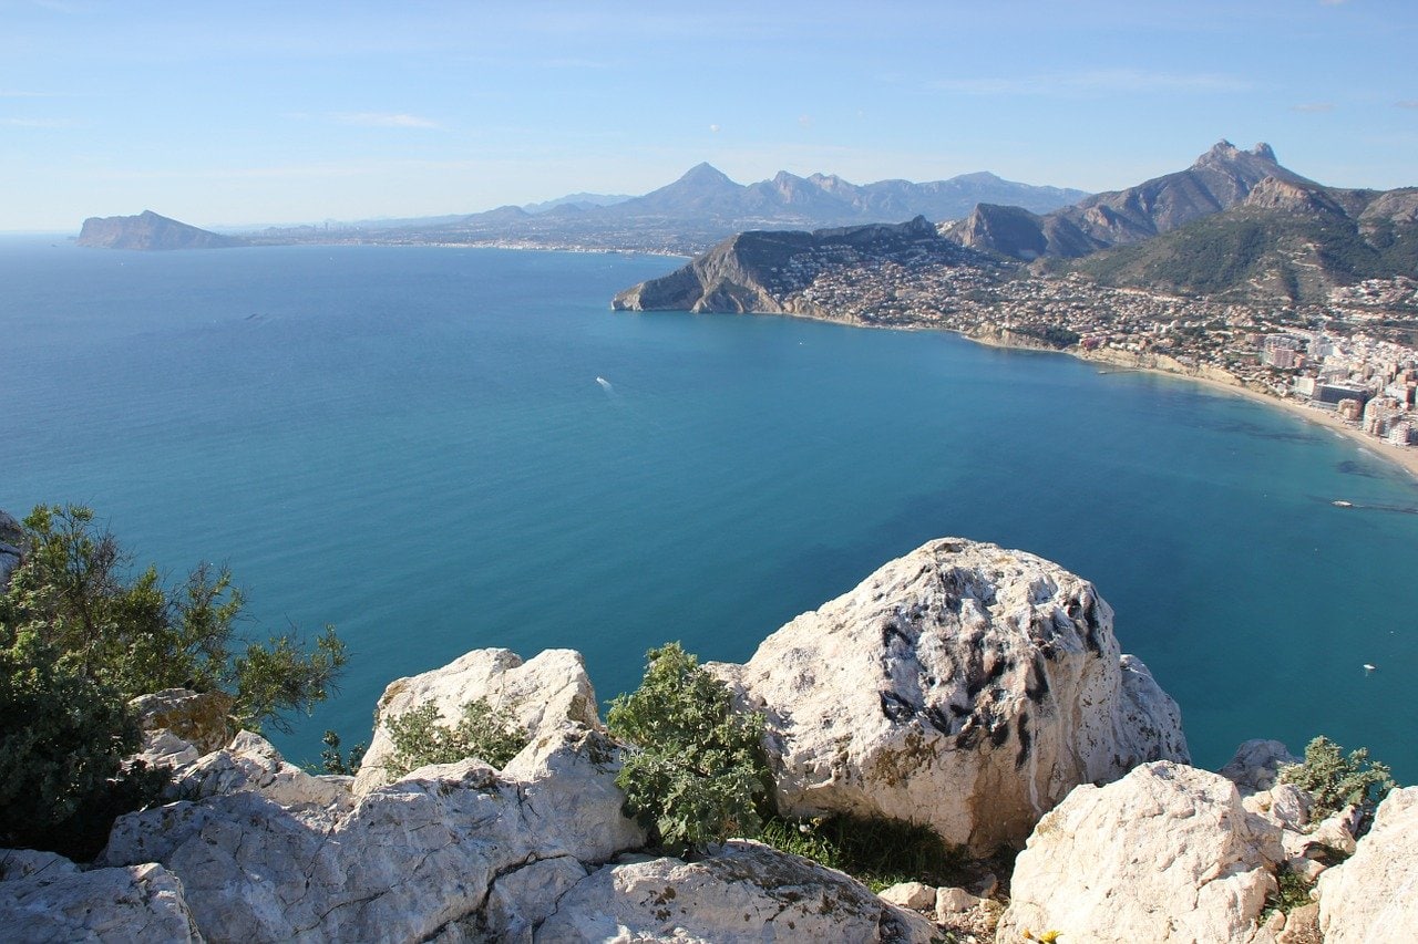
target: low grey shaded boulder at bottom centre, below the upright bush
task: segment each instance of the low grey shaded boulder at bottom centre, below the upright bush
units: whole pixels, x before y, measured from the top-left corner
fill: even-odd
[[[757,842],[695,862],[610,865],[577,883],[536,931],[573,941],[930,941],[934,927],[854,879]]]

